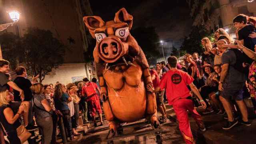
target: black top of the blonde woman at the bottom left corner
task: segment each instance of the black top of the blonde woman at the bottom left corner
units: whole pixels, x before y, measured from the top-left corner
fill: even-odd
[[[6,132],[12,132],[13,130],[16,130],[20,126],[20,121],[17,119],[14,124],[9,124],[4,116],[4,109],[11,108],[9,104],[3,104],[0,106],[0,122],[4,126],[4,129]]]

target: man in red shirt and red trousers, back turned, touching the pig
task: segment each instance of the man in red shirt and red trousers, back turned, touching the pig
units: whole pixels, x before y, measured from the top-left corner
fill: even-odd
[[[162,77],[160,84],[156,89],[152,85],[147,87],[148,91],[158,92],[165,88],[168,103],[173,106],[174,111],[179,121],[179,128],[186,144],[195,144],[195,140],[192,136],[192,132],[188,120],[188,112],[191,113],[192,117],[196,120],[196,124],[201,131],[205,131],[205,126],[201,116],[194,109],[194,103],[191,100],[190,90],[187,85],[190,86],[192,92],[199,98],[200,103],[206,108],[206,103],[202,99],[198,89],[193,84],[193,78],[186,72],[178,70],[177,58],[170,56],[168,58],[169,71]]]

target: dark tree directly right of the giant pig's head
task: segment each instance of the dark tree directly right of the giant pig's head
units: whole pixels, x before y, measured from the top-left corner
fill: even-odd
[[[148,60],[159,56],[156,43],[159,41],[159,37],[154,27],[137,27],[132,29],[130,33],[136,39]]]

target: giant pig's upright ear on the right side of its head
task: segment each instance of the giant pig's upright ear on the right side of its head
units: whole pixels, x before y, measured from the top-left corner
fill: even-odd
[[[126,22],[129,26],[129,29],[132,28],[132,19],[133,16],[128,14],[125,8],[121,8],[117,13],[114,18],[115,22]]]

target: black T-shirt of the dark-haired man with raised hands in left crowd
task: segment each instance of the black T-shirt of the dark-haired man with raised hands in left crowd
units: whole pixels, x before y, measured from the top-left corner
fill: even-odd
[[[22,76],[17,76],[17,78],[15,78],[14,83],[17,84],[17,86],[22,89],[24,91],[24,101],[30,101],[32,100],[32,92],[30,90],[30,87],[32,86],[30,80],[22,77]],[[18,92],[17,90],[14,90],[14,101],[16,102],[20,102],[20,92]]]

